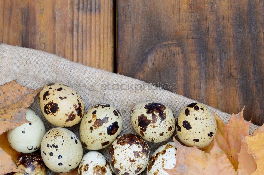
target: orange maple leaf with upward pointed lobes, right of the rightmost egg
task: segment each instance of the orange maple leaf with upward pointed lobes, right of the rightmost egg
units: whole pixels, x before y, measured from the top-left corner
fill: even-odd
[[[227,125],[225,125],[224,122],[214,114],[217,121],[216,142],[219,148],[225,152],[235,170],[238,168],[237,153],[240,152],[241,137],[249,136],[250,121],[244,121],[243,110],[244,108],[238,114],[232,114]],[[202,150],[209,152],[211,148],[212,143]]]

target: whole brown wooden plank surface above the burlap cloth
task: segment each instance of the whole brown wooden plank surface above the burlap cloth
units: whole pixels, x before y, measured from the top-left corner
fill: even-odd
[[[263,0],[2,0],[0,10],[1,43],[174,84],[264,123]]]

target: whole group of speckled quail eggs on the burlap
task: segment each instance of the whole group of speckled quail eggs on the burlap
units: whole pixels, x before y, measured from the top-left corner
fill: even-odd
[[[39,94],[44,117],[57,126],[45,131],[40,117],[27,109],[24,123],[8,131],[7,137],[13,149],[27,153],[15,163],[29,174],[46,174],[46,167],[54,172],[78,174],[167,174],[163,168],[176,165],[176,147],[168,142],[159,147],[149,159],[148,142],[158,143],[169,139],[176,129],[178,138],[187,146],[203,148],[216,134],[216,120],[202,103],[191,103],[182,109],[177,121],[170,108],[157,102],[142,102],[131,110],[131,124],[138,135],[122,130],[120,112],[112,105],[97,104],[84,114],[84,102],[73,88],[51,83]],[[80,139],[65,127],[81,121]],[[99,150],[110,146],[109,160],[97,152],[83,156],[82,146]],[[33,153],[40,148],[39,154]],[[28,154],[29,153],[29,154]],[[23,166],[23,165],[27,166]],[[37,165],[37,166],[36,166]]]

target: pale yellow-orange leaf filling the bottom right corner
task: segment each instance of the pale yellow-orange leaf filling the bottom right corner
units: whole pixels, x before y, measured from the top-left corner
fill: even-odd
[[[254,157],[255,162],[257,163],[257,169],[253,173],[264,174],[264,133],[258,133],[252,137],[245,137],[248,145],[248,153]]]

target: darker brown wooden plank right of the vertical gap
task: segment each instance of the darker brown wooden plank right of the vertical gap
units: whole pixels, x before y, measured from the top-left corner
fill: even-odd
[[[262,125],[264,2],[118,0],[117,72]]]

